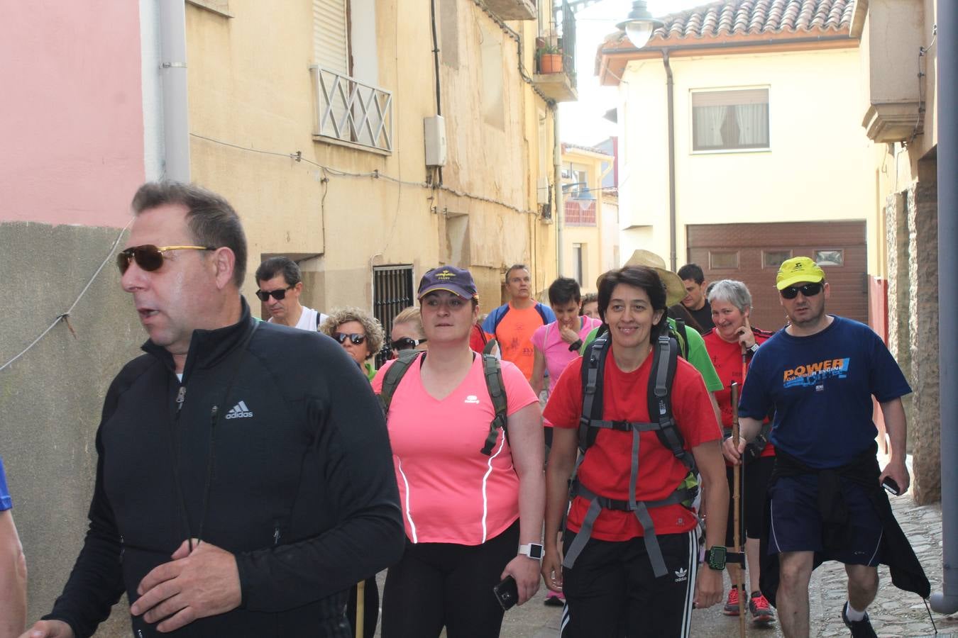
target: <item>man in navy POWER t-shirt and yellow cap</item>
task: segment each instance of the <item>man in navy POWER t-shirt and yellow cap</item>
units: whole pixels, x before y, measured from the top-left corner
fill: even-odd
[[[825,313],[829,284],[809,257],[783,262],[776,287],[790,323],[756,352],[741,393],[740,444],[724,443],[726,458],[740,463],[764,415],[775,408],[762,591],[777,605],[787,638],[808,636],[811,572],[822,561],[844,562],[842,621],[853,636],[876,636],[866,609],[878,593],[879,562],[890,566],[899,588],[923,598],[930,593],[881,489],[885,479],[894,481],[895,494],[908,489],[901,396],[911,388],[868,326]],[[880,472],[873,395],[891,439]]]

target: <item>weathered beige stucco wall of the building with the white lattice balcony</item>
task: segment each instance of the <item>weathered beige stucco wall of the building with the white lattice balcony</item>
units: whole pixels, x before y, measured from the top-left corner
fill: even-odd
[[[460,62],[441,65],[448,160],[444,188],[431,188],[424,183],[436,175],[423,143],[423,119],[436,114],[428,3],[375,3],[375,83],[392,93],[391,154],[313,140],[312,10],[283,5],[231,0],[232,18],[187,8],[191,131],[244,147],[198,137],[191,147],[194,180],[226,195],[243,218],[244,293],[256,290],[261,256],[276,253],[312,255],[301,261],[311,283],[305,301],[323,310],[372,308],[377,265],[411,263],[416,281],[440,263],[467,266],[487,308],[498,305],[502,271],[514,262],[530,264],[536,282],[548,285],[554,226],[537,218],[535,190],[536,107],[544,104],[519,77],[514,41],[472,4],[457,3],[441,21],[458,47],[443,59]],[[503,39],[501,126],[484,121],[481,109],[479,48],[489,36]],[[372,48],[356,46],[354,57]],[[297,152],[302,162],[286,157]],[[385,177],[340,174],[373,171]]]

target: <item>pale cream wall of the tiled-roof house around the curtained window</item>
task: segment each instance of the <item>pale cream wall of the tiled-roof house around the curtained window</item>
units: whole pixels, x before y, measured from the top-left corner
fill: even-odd
[[[673,57],[678,263],[689,224],[868,219],[869,268],[878,235],[873,144],[861,128],[856,49]],[[668,260],[669,172],[662,61],[630,62],[620,85],[622,254]],[[768,87],[771,149],[692,153],[694,89]]]

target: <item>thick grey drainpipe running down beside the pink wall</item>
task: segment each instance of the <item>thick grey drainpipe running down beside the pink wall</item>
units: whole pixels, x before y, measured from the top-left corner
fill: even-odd
[[[186,3],[160,0],[160,87],[163,91],[164,178],[190,181],[186,77]]]

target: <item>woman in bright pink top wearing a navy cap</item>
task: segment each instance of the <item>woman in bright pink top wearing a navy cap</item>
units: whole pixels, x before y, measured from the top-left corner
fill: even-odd
[[[406,551],[383,589],[383,638],[499,635],[492,588],[512,576],[522,605],[538,589],[545,483],[536,395],[501,362],[508,440],[483,447],[495,409],[482,355],[469,348],[478,315],[472,275],[444,266],[417,297],[429,349],[396,385],[387,427],[406,528]],[[395,362],[386,363],[373,389]]]

